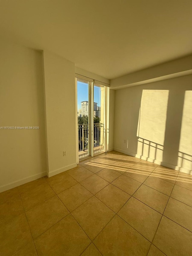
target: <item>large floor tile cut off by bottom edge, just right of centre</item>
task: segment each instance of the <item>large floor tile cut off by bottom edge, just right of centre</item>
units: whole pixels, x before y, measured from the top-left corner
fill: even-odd
[[[103,255],[146,256],[150,242],[117,215],[93,241]]]

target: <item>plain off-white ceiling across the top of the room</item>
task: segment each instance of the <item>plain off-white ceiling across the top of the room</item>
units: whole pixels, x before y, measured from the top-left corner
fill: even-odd
[[[192,53],[192,1],[0,0],[0,35],[112,79]]]

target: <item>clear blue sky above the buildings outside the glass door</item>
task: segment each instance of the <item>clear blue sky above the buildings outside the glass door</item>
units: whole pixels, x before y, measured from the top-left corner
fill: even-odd
[[[101,107],[101,89],[94,86],[94,102],[97,102],[98,107]],[[88,101],[88,84],[77,81],[77,104],[78,110],[81,108],[81,101]]]

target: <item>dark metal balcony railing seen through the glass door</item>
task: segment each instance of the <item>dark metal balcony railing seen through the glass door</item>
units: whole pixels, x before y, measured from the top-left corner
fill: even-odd
[[[103,138],[104,124],[96,123],[93,125],[94,147],[101,146]],[[78,125],[79,151],[88,149],[88,124]]]

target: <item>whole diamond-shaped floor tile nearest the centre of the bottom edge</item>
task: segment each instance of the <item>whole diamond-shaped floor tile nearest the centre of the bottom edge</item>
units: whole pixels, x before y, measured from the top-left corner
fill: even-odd
[[[115,215],[114,212],[96,197],[91,197],[71,212],[71,214],[91,240],[101,232]]]

